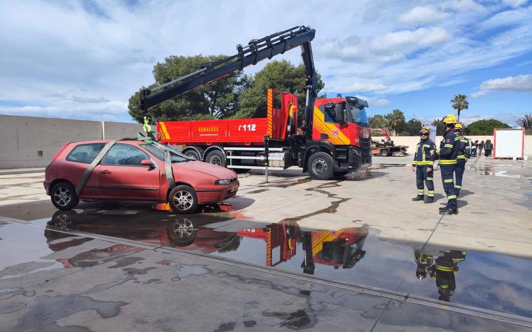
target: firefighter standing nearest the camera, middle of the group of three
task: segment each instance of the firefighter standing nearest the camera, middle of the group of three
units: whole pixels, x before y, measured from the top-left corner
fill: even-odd
[[[456,203],[456,193],[454,192],[453,174],[458,157],[458,141],[455,140],[454,126],[456,116],[449,114],[443,119],[444,130],[443,140],[436,151],[430,151],[431,155],[439,156],[439,167],[442,170],[443,189],[447,194],[447,206],[439,208],[440,215],[458,215],[458,205]]]

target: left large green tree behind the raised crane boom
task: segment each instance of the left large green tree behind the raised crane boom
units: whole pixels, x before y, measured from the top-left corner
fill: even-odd
[[[225,57],[224,55],[169,56],[165,58],[163,63],[157,63],[154,66],[155,83],[148,88],[155,88],[188,75],[200,69],[205,63],[218,61]],[[240,92],[249,87],[250,84],[250,77],[237,71],[210,84],[188,91],[179,98],[164,101],[164,103],[150,108],[149,113],[152,120],[155,121],[226,118],[233,115],[239,108]],[[140,91],[142,89],[139,89],[129,98],[128,108],[131,117],[135,121],[143,123],[143,115],[140,112]],[[161,91],[163,90],[154,93]]]

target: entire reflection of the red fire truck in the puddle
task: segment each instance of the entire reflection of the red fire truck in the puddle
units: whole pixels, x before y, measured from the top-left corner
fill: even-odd
[[[339,231],[301,231],[295,223],[279,223],[264,228],[243,229],[239,236],[262,239],[266,242],[266,265],[276,266],[296,254],[296,243],[302,242],[305,258],[303,273],[314,274],[314,264],[330,265],[338,269],[352,268],[365,254],[362,250],[368,235],[366,227],[348,227]],[[273,254],[279,248],[279,255]]]

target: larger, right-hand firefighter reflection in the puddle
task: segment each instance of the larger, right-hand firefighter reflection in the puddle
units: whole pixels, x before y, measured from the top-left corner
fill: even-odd
[[[465,259],[465,251],[446,250],[436,259],[436,264],[429,267],[430,277],[436,280],[438,300],[450,302],[456,289],[454,275],[458,273],[458,263]]]

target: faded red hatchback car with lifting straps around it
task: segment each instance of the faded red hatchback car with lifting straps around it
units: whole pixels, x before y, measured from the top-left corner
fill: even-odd
[[[64,143],[46,167],[44,188],[58,209],[76,207],[79,200],[110,199],[168,202],[178,213],[194,212],[198,204],[234,196],[239,182],[225,167],[192,160],[179,152],[138,140],[115,143],[76,195],[76,185],[89,164],[109,141]],[[170,189],[164,168],[169,149],[176,187]]]

